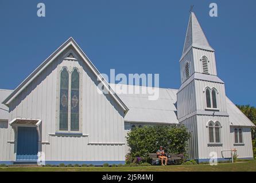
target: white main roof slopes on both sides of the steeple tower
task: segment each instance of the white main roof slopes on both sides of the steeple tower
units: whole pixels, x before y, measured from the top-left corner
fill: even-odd
[[[113,87],[113,84],[110,84]],[[119,85],[131,86],[142,91],[145,86]],[[133,91],[134,91],[133,89]],[[123,102],[128,106],[129,112],[125,116],[126,122],[145,122],[151,124],[179,124],[177,120],[177,92],[176,89],[159,88],[158,100],[150,101],[148,97],[150,94],[118,94]],[[245,114],[233,104],[228,97],[227,113],[230,119],[231,126],[249,126],[255,125],[251,122]]]

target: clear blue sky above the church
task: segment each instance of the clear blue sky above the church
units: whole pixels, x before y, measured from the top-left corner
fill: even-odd
[[[46,17],[37,17],[44,2]],[[219,17],[208,13],[218,4]],[[0,0],[0,88],[15,89],[73,37],[101,73],[159,73],[178,89],[189,7],[216,50],[218,74],[235,104],[256,106],[256,1]]]

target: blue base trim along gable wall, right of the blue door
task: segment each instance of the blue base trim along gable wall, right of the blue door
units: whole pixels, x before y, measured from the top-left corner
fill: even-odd
[[[109,165],[113,165],[113,164],[125,164],[125,161],[45,161],[45,165],[46,164],[50,164],[50,165],[60,165],[60,164],[78,164],[78,165],[83,165],[83,164],[87,164],[87,165],[95,165],[95,166],[102,166],[103,164],[109,164]]]

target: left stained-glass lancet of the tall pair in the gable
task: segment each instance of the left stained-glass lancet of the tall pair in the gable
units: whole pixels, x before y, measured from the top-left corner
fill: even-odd
[[[68,79],[68,71],[64,68],[60,73],[60,130],[68,130]]]

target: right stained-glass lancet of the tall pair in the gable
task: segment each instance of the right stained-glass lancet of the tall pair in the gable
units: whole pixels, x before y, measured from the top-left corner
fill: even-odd
[[[71,131],[79,131],[79,73],[71,75]]]

